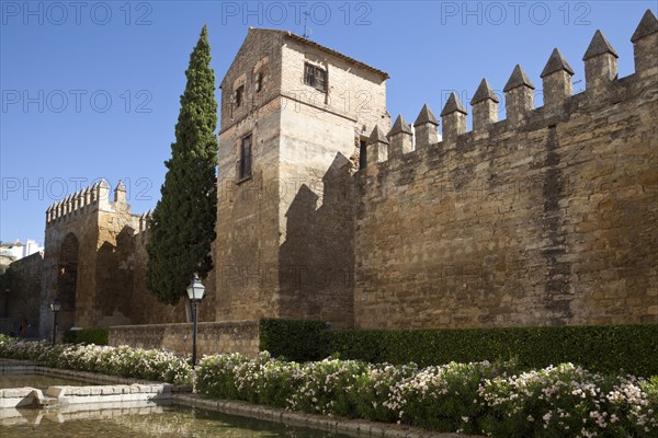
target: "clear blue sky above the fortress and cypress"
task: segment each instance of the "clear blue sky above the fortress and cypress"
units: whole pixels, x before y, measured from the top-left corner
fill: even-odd
[[[308,12],[311,39],[390,74],[388,111],[412,122],[424,103],[439,114],[451,91],[467,103],[483,77],[500,92],[518,62],[541,91],[554,47],[581,91],[581,58],[597,28],[620,55],[620,77],[628,76],[631,35],[656,8],[655,0],[2,0],[0,240],[43,243],[47,207],[101,177],[125,181],[133,211],[155,207],[204,23],[219,84],[248,26],[302,34]]]

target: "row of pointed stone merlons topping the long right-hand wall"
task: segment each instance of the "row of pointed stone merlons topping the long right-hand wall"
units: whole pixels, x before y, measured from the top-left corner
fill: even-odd
[[[658,76],[658,20],[650,10],[642,18],[632,37],[635,53],[634,78]],[[544,105],[535,107],[535,85],[521,65],[517,65],[503,88],[507,118],[498,120],[498,97],[484,78],[470,101],[473,111],[473,130],[467,131],[468,111],[452,93],[441,111],[441,124],[430,107],[423,105],[411,127],[402,115],[395,120],[384,140],[379,128],[375,127],[367,145],[367,166],[374,163],[399,159],[426,148],[452,149],[465,135],[478,138],[487,137],[496,126],[501,137],[513,136],[526,129],[529,120],[533,127],[554,125],[560,119],[568,119],[570,112],[578,108],[574,105],[577,97],[580,102],[611,102],[611,90],[620,82],[617,77],[617,54],[601,31],[597,31],[590,42],[582,60],[586,71],[586,90],[578,95],[572,94],[574,69],[563,57],[558,48],[554,48],[541,73]],[[616,97],[615,97],[616,99]],[[439,125],[442,140],[439,141]]]

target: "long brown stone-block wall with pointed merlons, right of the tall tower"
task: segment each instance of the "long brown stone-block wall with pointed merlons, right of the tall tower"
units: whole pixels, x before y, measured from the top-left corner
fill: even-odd
[[[657,38],[647,11],[633,36],[636,71],[620,79],[597,31],[576,95],[555,49],[540,108],[517,66],[501,122],[483,80],[474,131],[456,95],[441,113],[442,141],[426,134],[386,158],[373,131],[368,154],[383,159],[355,175],[355,325],[658,323]],[[392,146],[396,136],[394,126]]]

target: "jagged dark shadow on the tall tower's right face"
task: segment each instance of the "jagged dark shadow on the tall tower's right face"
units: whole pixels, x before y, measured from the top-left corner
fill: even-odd
[[[324,198],[302,185],[286,212],[280,247],[281,318],[354,321],[352,162],[338,153],[322,176]]]

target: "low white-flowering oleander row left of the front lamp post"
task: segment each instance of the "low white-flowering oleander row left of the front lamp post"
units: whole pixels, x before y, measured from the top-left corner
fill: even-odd
[[[192,367],[186,358],[156,349],[93,344],[53,346],[45,341],[0,341],[0,357],[35,360],[53,368],[101,372],[174,384],[192,383]]]

